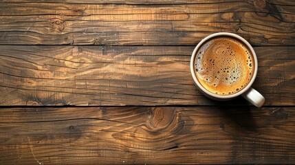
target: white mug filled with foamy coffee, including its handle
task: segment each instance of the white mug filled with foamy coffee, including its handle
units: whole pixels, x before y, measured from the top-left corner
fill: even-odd
[[[190,58],[193,80],[205,96],[221,101],[243,96],[261,107],[265,98],[251,87],[257,68],[257,57],[250,43],[228,32],[206,36]]]

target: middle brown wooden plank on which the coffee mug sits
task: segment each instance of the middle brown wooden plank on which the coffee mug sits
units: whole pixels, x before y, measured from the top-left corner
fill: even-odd
[[[0,46],[1,105],[217,105],[190,75],[194,47]],[[254,47],[265,105],[295,104],[295,47]]]

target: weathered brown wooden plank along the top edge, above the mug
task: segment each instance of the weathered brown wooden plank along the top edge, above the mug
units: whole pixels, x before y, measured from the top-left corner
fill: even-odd
[[[196,45],[214,32],[240,34],[252,45],[295,43],[294,1],[179,2],[0,3],[0,44]]]

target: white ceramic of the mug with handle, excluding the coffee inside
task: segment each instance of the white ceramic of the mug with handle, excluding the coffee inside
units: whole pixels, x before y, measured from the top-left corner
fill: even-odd
[[[243,44],[245,44],[249,47],[250,51],[252,52],[253,60],[254,60],[254,73],[253,73],[252,79],[250,80],[250,83],[248,83],[248,85],[246,85],[243,89],[241,89],[237,93],[226,95],[226,96],[213,94],[212,92],[205,89],[197,80],[197,76],[195,75],[195,69],[194,69],[195,56],[196,56],[197,51],[201,47],[201,45],[203,45],[203,43],[212,39],[213,37],[217,37],[217,36],[230,36],[234,39],[238,39]],[[256,54],[253,50],[253,47],[250,45],[250,43],[248,43],[248,41],[245,41],[245,39],[243,39],[241,36],[238,36],[237,34],[228,33],[228,32],[219,32],[219,33],[215,33],[215,34],[211,34],[209,36],[206,36],[206,38],[201,40],[201,42],[199,42],[197,47],[195,47],[192,57],[190,58],[190,72],[193,76],[193,80],[195,81],[195,84],[197,85],[197,87],[199,88],[201,93],[203,93],[205,96],[207,96],[208,98],[211,98],[213,100],[223,101],[223,100],[230,100],[232,98],[236,98],[237,96],[241,95],[241,96],[243,96],[243,98],[245,98],[246,100],[248,100],[249,102],[254,104],[256,107],[261,107],[263,105],[263,103],[265,102],[265,98],[261,94],[259,94],[258,91],[256,91],[255,89],[253,89],[251,87],[251,85],[253,84],[253,82],[256,78],[257,67],[258,67],[257,57],[256,57]]]

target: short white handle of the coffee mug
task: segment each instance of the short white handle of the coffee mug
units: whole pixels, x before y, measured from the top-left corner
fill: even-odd
[[[265,102],[265,98],[252,87],[250,87],[248,91],[245,91],[242,96],[245,98],[245,100],[248,100],[248,102],[251,102],[256,107],[261,107]]]

